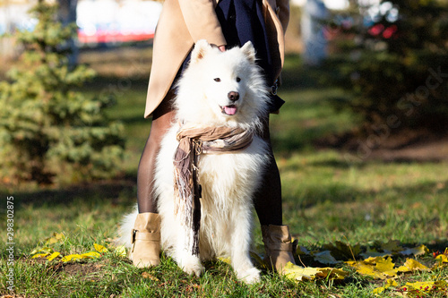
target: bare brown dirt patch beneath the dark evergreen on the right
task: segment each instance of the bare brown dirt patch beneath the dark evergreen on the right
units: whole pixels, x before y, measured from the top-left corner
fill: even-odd
[[[416,130],[390,135],[382,135],[380,132],[363,136],[356,132],[348,132],[316,140],[314,145],[318,149],[340,149],[361,160],[385,162],[448,160],[448,132]]]

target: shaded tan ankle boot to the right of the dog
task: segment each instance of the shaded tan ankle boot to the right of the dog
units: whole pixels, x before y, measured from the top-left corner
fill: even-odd
[[[296,264],[292,254],[293,246],[288,226],[262,226],[263,243],[266,250],[264,261],[271,269],[283,273],[288,262]]]

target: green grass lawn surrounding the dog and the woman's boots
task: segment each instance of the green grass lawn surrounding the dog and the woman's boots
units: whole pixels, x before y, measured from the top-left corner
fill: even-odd
[[[297,55],[289,55],[280,96],[287,103],[271,116],[271,134],[280,167],[284,222],[298,243],[318,250],[341,241],[364,247],[398,240],[402,245],[426,244],[431,251],[448,246],[448,162],[362,161],[334,149],[314,149],[314,140],[356,125],[356,117],[334,112],[332,98],[347,97],[325,86],[321,70],[307,70]],[[142,76],[144,77],[144,75]],[[134,268],[125,258],[106,253],[98,260],[61,263],[30,260],[30,251],[42,246],[54,232],[64,233],[53,244],[64,255],[91,251],[93,243],[107,244],[116,236],[120,217],[136,200],[135,175],[150,122],[142,118],[145,78],[134,78],[119,89],[120,79],[107,78],[90,85],[87,94],[113,93],[117,105],[109,115],[125,123],[127,155],[125,178],[102,183],[39,189],[26,185],[4,189],[14,197],[14,294],[26,297],[373,297],[383,285],[360,276],[345,265],[350,276],[342,282],[320,280],[295,283],[269,272],[263,282],[244,285],[220,261],[205,264],[202,277],[186,276],[162,256],[157,268]],[[115,87],[114,87],[115,86]],[[6,206],[0,207],[0,294],[7,290]],[[254,250],[263,253],[261,231],[255,220]],[[431,264],[430,255],[418,260]],[[304,260],[306,262],[306,260]],[[396,259],[402,262],[403,259]],[[305,263],[306,266],[314,266]],[[151,278],[142,276],[149,273]],[[402,275],[406,282],[448,280],[445,268]],[[444,293],[435,297],[444,297]],[[387,292],[384,297],[395,297]]]

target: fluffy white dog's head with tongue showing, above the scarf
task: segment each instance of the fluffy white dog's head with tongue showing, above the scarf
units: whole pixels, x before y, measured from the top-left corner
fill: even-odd
[[[221,52],[196,43],[178,83],[178,116],[208,125],[253,125],[266,113],[267,87],[252,43]]]

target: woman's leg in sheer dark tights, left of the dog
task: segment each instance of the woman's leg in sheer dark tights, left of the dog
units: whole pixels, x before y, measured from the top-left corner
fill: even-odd
[[[142,158],[137,172],[137,202],[139,213],[158,213],[157,201],[152,194],[154,186],[154,170],[160,142],[173,122],[175,112],[171,106],[174,91],[169,91],[167,97],[152,114],[151,132],[142,152]]]

